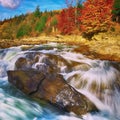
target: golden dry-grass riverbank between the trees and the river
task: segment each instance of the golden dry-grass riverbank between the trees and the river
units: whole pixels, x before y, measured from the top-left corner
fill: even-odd
[[[19,45],[35,45],[47,42],[66,43],[77,45],[76,52],[92,59],[102,59],[120,62],[120,34],[99,33],[87,40],[79,35],[54,35],[23,38],[16,40],[0,40],[0,48],[9,48]]]

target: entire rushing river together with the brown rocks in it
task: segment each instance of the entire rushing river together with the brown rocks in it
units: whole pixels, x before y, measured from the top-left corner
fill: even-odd
[[[119,120],[120,63],[89,59],[80,48],[92,57],[62,43],[1,49],[0,118]]]

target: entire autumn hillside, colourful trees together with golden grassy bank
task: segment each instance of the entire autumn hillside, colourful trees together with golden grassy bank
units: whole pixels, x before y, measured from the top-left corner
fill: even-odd
[[[33,13],[0,22],[0,48],[65,42],[77,44],[76,51],[89,57],[120,61],[119,2],[87,0],[83,5],[44,12],[36,7]]]

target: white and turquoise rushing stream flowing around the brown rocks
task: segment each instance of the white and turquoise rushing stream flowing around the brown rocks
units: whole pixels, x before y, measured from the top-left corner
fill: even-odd
[[[74,47],[49,43],[0,49],[0,120],[120,120],[120,63],[91,60],[76,53]],[[6,71],[14,70],[16,60],[25,53],[36,51],[43,56],[34,69],[46,54],[60,56],[63,60],[57,59],[59,74],[100,112],[83,116],[64,113],[49,104],[37,103],[11,85]]]

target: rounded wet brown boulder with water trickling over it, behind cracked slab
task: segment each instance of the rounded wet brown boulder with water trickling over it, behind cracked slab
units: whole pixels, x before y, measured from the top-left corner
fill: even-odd
[[[29,68],[48,74],[51,72],[69,72],[73,69],[73,65],[58,55],[28,52],[16,61],[15,70],[27,70]]]

